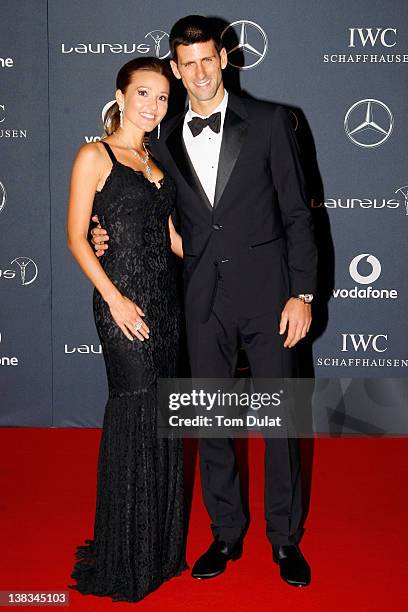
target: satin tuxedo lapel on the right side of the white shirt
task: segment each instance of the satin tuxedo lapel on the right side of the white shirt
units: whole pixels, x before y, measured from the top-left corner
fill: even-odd
[[[229,94],[227,112],[225,113],[224,129],[220,158],[218,162],[217,182],[215,186],[214,208],[219,203],[227,186],[231,173],[234,169],[238,155],[241,151],[244,136],[248,128],[247,122],[242,119],[241,101],[236,96]]]

